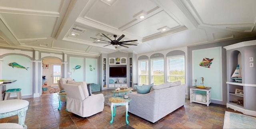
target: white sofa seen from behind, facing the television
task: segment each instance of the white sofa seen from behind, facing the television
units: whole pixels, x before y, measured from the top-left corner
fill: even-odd
[[[128,111],[155,123],[185,104],[185,85],[179,82],[154,85],[149,93],[130,93]]]

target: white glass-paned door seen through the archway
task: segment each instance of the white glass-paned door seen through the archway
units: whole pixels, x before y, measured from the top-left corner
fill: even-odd
[[[51,85],[58,85],[57,80],[60,79],[61,75],[61,64],[51,64]]]

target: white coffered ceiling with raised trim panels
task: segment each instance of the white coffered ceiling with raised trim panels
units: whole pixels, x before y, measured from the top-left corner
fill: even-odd
[[[209,44],[256,36],[255,5],[256,0],[0,0],[0,46],[99,56]],[[109,41],[101,33],[112,40],[124,34],[121,41],[138,40],[130,43],[138,46],[115,48],[92,39]]]

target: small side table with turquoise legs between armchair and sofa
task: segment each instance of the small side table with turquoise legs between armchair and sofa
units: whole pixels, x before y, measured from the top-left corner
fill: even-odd
[[[132,100],[132,99],[130,99],[130,98],[124,99],[123,97],[110,97],[110,98],[108,99],[108,101],[111,102],[111,106],[110,106],[110,108],[111,108],[111,120],[110,120],[110,122],[109,122],[110,124],[113,123],[114,116],[116,115],[116,105],[120,105],[120,106],[125,105],[125,107],[126,107],[125,120],[126,120],[126,124],[129,123],[129,121],[128,121],[128,119],[127,119],[127,117],[129,116],[129,115],[128,115],[128,103],[129,103],[131,100]],[[113,111],[113,110],[114,110],[114,111]]]

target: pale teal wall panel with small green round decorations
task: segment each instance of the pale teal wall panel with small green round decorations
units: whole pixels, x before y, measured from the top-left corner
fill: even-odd
[[[86,58],[85,62],[86,62],[86,73],[85,73],[86,83],[98,84],[97,59]]]

